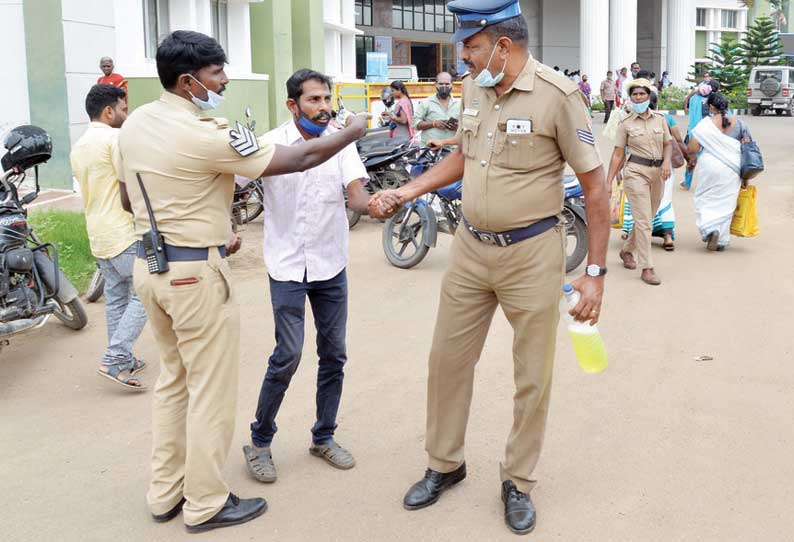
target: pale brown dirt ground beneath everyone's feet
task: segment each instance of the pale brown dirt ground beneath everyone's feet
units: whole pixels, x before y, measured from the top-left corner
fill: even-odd
[[[599,326],[609,368],[582,372],[560,326],[532,494],[538,524],[527,539],[794,539],[794,119],[747,122],[767,164],[758,180],[761,235],[734,239],[724,253],[706,252],[691,192],[676,187],[676,251],[654,252],[662,286],[646,286],[639,272],[619,265],[613,232]],[[269,510],[203,538],[514,539],[499,498],[514,389],[512,333],[500,312],[477,369],[469,477],[431,508],[401,506],[425,469],[426,360],[446,235],[422,264],[404,271],[387,263],[378,222],[365,218],[351,231],[350,361],[337,439],[355,454],[356,468],[337,471],[307,453],[316,378],[307,322],[303,366],[278,418],[279,480],[266,486],[248,477],[241,447],[274,339],[261,219],[244,236],[245,251],[232,260],[242,359],[225,473],[233,491],[267,498]],[[129,393],[96,375],[105,344],[102,304],[88,313],[80,332],[52,322],[0,354],[2,538],[187,539],[181,517],[165,525],[149,518],[151,392]],[[148,328],[138,353],[149,364],[141,376],[152,385],[158,355]],[[699,355],[714,359],[694,361]]]

